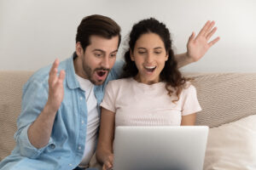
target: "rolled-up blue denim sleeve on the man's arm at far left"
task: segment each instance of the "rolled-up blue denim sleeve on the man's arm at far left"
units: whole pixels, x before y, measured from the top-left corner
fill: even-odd
[[[53,140],[49,139],[49,144],[43,148],[35,148],[28,139],[28,128],[31,126],[48,99],[48,88],[44,87],[43,82],[29,81],[23,88],[21,112],[17,121],[18,131],[15,133],[15,140],[18,148],[20,148],[21,156],[28,158],[37,158],[49,144],[53,144]]]

